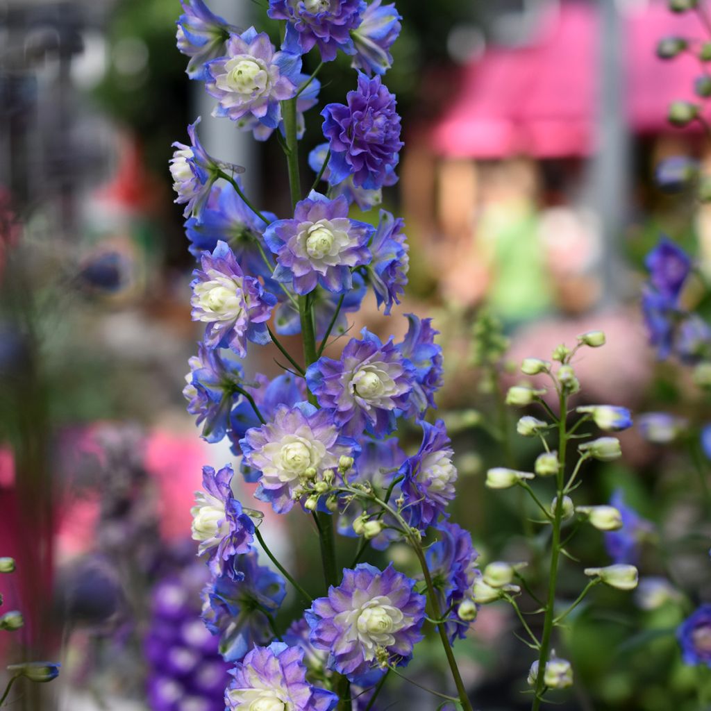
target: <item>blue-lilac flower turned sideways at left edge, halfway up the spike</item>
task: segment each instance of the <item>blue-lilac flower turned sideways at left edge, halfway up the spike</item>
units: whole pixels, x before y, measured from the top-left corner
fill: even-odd
[[[218,350],[205,343],[198,343],[198,355],[188,363],[190,373],[183,388],[188,412],[198,416],[196,424],[205,422],[202,437],[206,442],[220,442],[228,432],[230,410],[240,397],[237,387],[244,377],[242,366],[225,362]]]

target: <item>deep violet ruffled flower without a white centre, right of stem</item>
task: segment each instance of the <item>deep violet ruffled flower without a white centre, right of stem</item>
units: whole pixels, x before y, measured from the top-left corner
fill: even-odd
[[[395,96],[380,81],[358,74],[358,90],[346,104],[328,104],[321,112],[331,159],[328,181],[337,185],[353,176],[356,188],[373,190],[392,181],[402,148]]]

